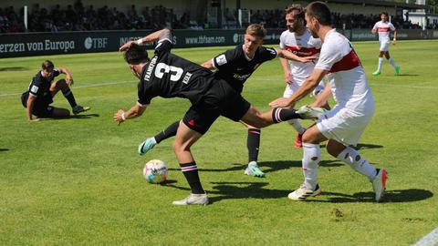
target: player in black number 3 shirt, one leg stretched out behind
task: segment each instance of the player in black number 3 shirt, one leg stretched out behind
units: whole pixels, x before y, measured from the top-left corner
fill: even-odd
[[[142,43],[158,40],[154,56],[148,57]],[[175,200],[175,205],[207,205],[207,194],[203,190],[198,169],[190,148],[203,136],[219,116],[234,121],[242,120],[256,128],[264,128],[291,118],[318,118],[318,110],[297,112],[295,109],[273,108],[260,113],[223,79],[205,67],[175,56],[171,53],[172,35],[162,29],[149,36],[130,41],[120,47],[132,73],[140,78],[138,100],[128,111],[120,109],[113,119],[122,123],[126,119],[140,117],[153,97],[183,97],[192,102],[185,113],[183,123],[177,130],[172,148],[180,163],[185,179],[192,193],[183,200]]]

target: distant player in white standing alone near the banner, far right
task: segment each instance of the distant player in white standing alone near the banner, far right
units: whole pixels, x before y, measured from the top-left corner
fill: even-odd
[[[372,27],[371,33],[372,34],[379,34],[379,43],[381,43],[381,48],[379,52],[379,63],[377,70],[372,73],[373,76],[378,76],[381,74],[381,65],[383,64],[383,55],[386,57],[386,59],[390,62],[391,66],[395,69],[395,75],[400,75],[400,66],[398,66],[392,57],[390,56],[390,51],[388,51],[390,47],[390,43],[392,45],[395,45],[397,42],[397,30],[395,27],[391,24],[391,22],[388,21],[388,13],[381,12],[381,21],[377,22],[374,27]],[[390,42],[390,33],[394,32],[394,38],[392,39],[392,42]]]

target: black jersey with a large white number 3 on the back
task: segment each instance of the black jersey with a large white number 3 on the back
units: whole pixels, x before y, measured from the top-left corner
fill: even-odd
[[[194,104],[214,83],[210,70],[171,54],[171,49],[170,40],[160,40],[155,55],[143,67],[138,86],[141,105],[150,104],[153,97],[183,97]]]

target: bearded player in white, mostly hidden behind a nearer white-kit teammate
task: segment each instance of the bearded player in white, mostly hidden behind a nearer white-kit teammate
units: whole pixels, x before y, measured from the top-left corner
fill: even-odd
[[[290,5],[286,9],[287,30],[280,36],[280,48],[286,49],[297,56],[318,56],[322,46],[321,39],[314,38],[306,28],[304,20],[304,9],[300,5]],[[281,67],[285,74],[287,83],[283,97],[290,97],[303,85],[306,78],[312,73],[315,63],[302,63],[280,58]],[[324,83],[321,81],[313,92],[312,96],[316,97],[319,92],[324,90]],[[319,106],[318,106],[319,107]],[[324,106],[322,106],[324,107]],[[328,105],[326,105],[328,107]],[[297,138],[294,146],[302,148],[301,138],[304,128],[299,120],[291,119],[288,123],[297,130]]]

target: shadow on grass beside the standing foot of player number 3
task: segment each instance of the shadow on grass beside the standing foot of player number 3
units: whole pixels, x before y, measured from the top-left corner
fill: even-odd
[[[212,204],[224,199],[279,199],[287,198],[290,190],[271,190],[264,189],[267,182],[212,182],[214,190],[206,190],[210,195],[208,200]],[[179,190],[190,190],[189,188],[179,187],[176,185],[166,185]]]

